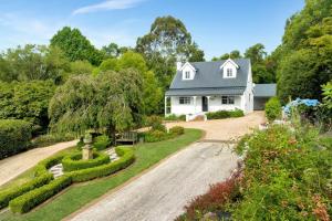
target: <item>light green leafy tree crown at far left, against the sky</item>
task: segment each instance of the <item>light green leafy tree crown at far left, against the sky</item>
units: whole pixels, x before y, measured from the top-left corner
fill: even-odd
[[[56,46],[27,44],[0,55],[0,81],[52,80],[61,83],[69,62]]]

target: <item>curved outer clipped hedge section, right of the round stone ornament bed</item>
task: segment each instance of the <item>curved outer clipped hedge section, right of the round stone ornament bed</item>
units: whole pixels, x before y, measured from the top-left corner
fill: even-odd
[[[72,177],[73,182],[87,181],[98,177],[105,177],[111,173],[114,173],[121,169],[126,168],[135,160],[134,150],[129,147],[116,147],[115,152],[121,158],[115,161],[112,161],[111,164],[72,171],[69,172],[68,176]]]

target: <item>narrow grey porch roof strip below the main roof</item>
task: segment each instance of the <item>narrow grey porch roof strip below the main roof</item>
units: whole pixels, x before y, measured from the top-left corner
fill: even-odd
[[[168,90],[166,96],[242,95],[246,87],[208,87]]]

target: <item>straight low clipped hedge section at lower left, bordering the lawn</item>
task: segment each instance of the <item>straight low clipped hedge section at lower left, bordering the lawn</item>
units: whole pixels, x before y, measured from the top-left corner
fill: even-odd
[[[10,201],[9,207],[11,211],[15,213],[29,212],[31,209],[53,197],[71,183],[72,178],[64,175],[43,187],[34,189]]]

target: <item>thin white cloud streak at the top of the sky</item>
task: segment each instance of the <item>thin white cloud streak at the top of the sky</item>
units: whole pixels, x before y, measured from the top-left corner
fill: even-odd
[[[137,3],[142,2],[142,1],[145,1],[145,0],[108,0],[108,1],[103,1],[101,3],[79,8],[73,11],[73,14],[90,13],[90,12],[96,12],[96,11],[129,9],[129,8],[136,7]]]

